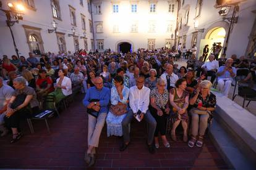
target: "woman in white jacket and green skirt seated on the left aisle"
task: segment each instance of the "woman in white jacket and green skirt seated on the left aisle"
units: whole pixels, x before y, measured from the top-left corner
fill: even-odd
[[[64,70],[60,69],[58,72],[59,78],[54,86],[55,91],[49,93],[48,95],[54,96],[55,102],[59,103],[62,99],[67,97],[67,95],[72,94],[72,83],[70,78],[65,76]],[[53,103],[47,103],[48,108],[53,108]]]

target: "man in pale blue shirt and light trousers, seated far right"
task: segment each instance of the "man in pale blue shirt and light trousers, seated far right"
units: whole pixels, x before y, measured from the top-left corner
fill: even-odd
[[[236,76],[236,68],[232,67],[233,59],[227,59],[226,64],[218,69],[218,89],[228,97],[233,78]]]

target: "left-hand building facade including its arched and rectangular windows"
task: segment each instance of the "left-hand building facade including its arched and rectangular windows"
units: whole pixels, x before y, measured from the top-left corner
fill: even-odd
[[[28,52],[43,54],[45,52],[93,49],[93,33],[90,1],[62,0],[17,0],[1,1],[2,9],[8,9],[7,3],[22,3],[25,6],[23,20],[11,26],[19,54],[28,57]],[[53,20],[57,23],[53,30]],[[91,26],[92,27],[92,26]],[[73,29],[73,30],[72,30]],[[74,33],[73,33],[74,31]],[[51,31],[50,31],[51,32]],[[86,35],[84,36],[84,32]],[[14,55],[15,49],[11,32],[6,25],[6,16],[0,15],[0,55]]]

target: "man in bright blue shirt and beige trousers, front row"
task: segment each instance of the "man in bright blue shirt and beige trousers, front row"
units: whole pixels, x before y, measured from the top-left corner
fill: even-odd
[[[110,99],[110,90],[103,87],[103,79],[96,77],[94,81],[95,87],[87,90],[83,105],[88,110],[93,110],[94,114],[88,114],[88,149],[85,153],[85,161],[88,166],[95,163],[95,148],[98,147],[101,130],[105,124],[106,115],[108,113],[108,103]],[[98,102],[95,101],[98,100]],[[94,101],[92,101],[94,100]],[[97,113],[95,115],[95,113]]]

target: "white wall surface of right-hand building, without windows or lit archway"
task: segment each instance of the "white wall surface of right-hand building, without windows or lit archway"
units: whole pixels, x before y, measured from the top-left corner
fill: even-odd
[[[195,18],[195,6],[197,1],[187,0],[184,5],[181,7],[179,12],[179,17],[182,16],[182,30],[179,30],[179,36],[187,35],[186,38],[186,47],[189,49],[191,47],[192,33],[195,30],[194,28],[194,18]],[[197,37],[197,52],[199,51],[200,39],[205,39],[207,31],[213,27],[224,26],[228,22],[223,22],[223,17],[221,17],[218,12],[220,9],[213,7],[215,1],[203,0],[202,11],[198,18],[198,29],[204,28],[203,33],[198,32]],[[187,7],[189,6],[189,23],[184,25],[184,15]],[[226,51],[226,56],[229,58],[232,54],[237,56],[244,55],[247,49],[249,42],[249,35],[252,31],[252,26],[255,20],[255,13],[252,13],[252,10],[256,10],[256,1],[247,0],[242,2],[239,5],[239,19],[238,22],[234,24],[233,31],[229,36],[228,49]],[[233,9],[229,10],[229,13],[225,17],[231,17]],[[227,27],[227,26],[226,26]],[[226,28],[226,36],[228,34],[228,28]],[[226,38],[225,38],[226,41]],[[183,41],[181,41],[183,42]]]

